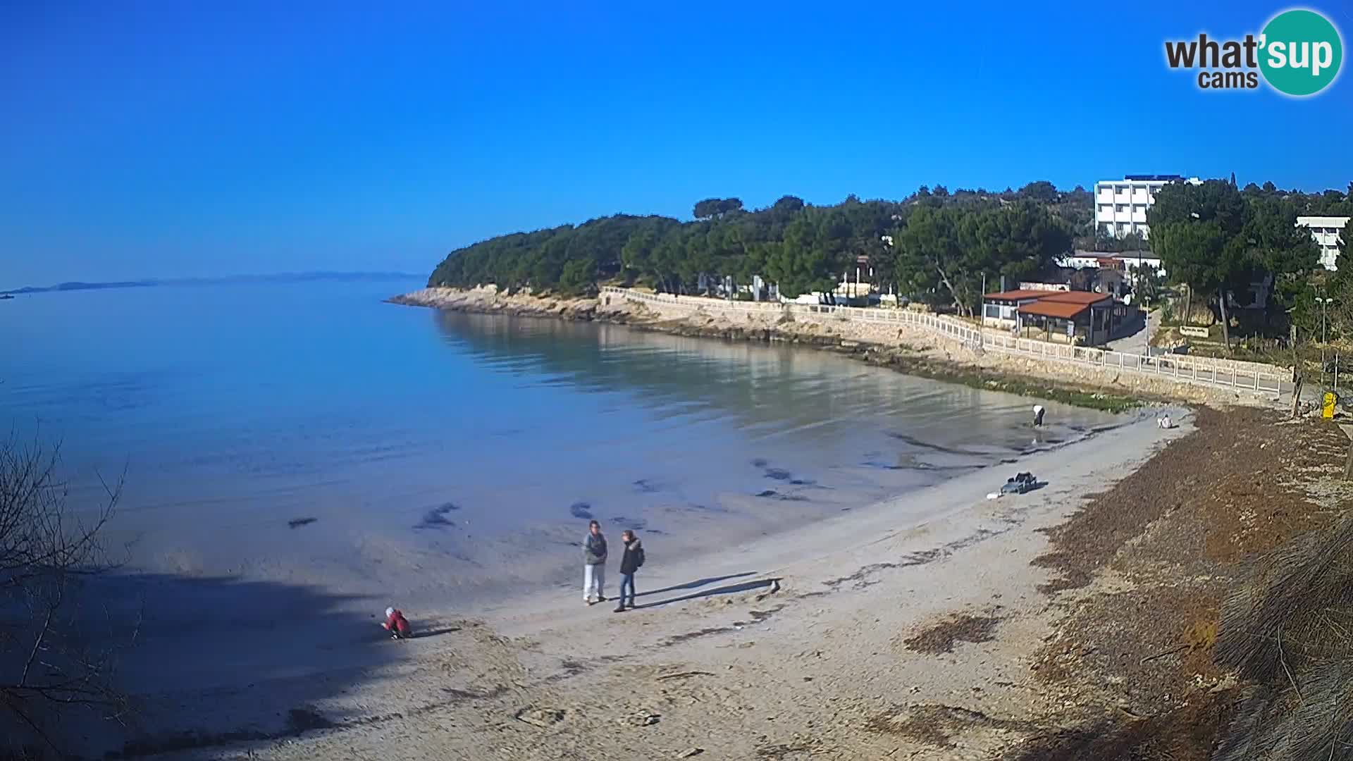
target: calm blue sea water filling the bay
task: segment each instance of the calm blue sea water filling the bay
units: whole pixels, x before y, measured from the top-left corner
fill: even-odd
[[[0,420],[129,567],[445,599],[572,584],[586,520],[698,552],[1112,416],[728,344],[383,303],[419,282],[0,302]],[[993,483],[1004,481],[993,474]],[[649,550],[652,552],[652,550]]]

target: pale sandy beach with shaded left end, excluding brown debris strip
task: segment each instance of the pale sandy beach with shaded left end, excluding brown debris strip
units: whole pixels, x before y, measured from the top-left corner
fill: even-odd
[[[568,586],[407,611],[422,636],[391,642],[376,609],[223,588],[221,622],[152,632],[124,662],[147,718],[124,756],[992,758],[1046,711],[1031,670],[1055,616],[1039,592],[1054,571],[1031,565],[1045,531],[1192,429],[1173,409],[1161,431],[1155,412],[907,505],[736,546],[710,524],[687,558],[649,538],[625,613]],[[1046,486],[986,498],[1005,470]],[[250,626],[260,604],[285,620]],[[938,743],[920,731],[948,724]]]

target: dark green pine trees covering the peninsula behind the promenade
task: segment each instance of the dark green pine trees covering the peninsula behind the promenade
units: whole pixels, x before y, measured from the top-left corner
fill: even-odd
[[[1239,190],[1234,180],[1211,180],[1208,188],[1210,198],[1235,199],[1237,223],[1253,221],[1275,230],[1291,230],[1298,214],[1348,214],[1353,206],[1339,191],[1281,191],[1272,183]],[[1187,186],[1165,191],[1195,192]],[[881,290],[967,311],[980,301],[984,276],[988,283],[1001,276],[1028,278],[1053,267],[1073,248],[1149,248],[1147,241],[1135,237],[1097,237],[1093,203],[1084,187],[1061,191],[1049,181],[1005,191],[921,187],[902,200],[861,200],[852,195],[832,206],[786,195],[755,210],[737,198],[710,198],[695,203],[691,221],[616,214],[480,241],[451,252],[429,278],[429,286],[468,288],[492,283],[507,292],[530,288],[587,295],[598,284],[616,283],[690,294],[704,292],[709,283],[724,278],[744,286],[760,276],[792,298],[829,290],[843,274],[854,272],[856,263],[867,261],[874,271],[870,280]],[[1239,234],[1237,227],[1234,236]],[[1302,236],[1281,241],[1288,244],[1302,248],[1303,263],[1310,259]],[[1192,249],[1199,246],[1187,248],[1158,256],[1196,260],[1200,252]],[[1165,264],[1168,268],[1169,261]],[[1188,264],[1187,274],[1200,280],[1197,286],[1204,286],[1203,280],[1214,286],[1211,275],[1197,272],[1196,261]],[[1235,272],[1224,275],[1242,278]]]

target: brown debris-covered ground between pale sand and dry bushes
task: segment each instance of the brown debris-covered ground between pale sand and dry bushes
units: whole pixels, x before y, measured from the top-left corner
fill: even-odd
[[[1057,571],[1043,590],[1066,617],[1035,668],[1073,705],[1047,723],[1082,724],[1009,761],[1204,761],[1230,723],[1242,692],[1214,662],[1222,600],[1246,561],[1329,529],[1335,510],[1306,486],[1341,470],[1349,443],[1329,422],[1268,410],[1201,409],[1196,425],[1050,532],[1035,563]],[[1095,592],[1105,570],[1115,581]]]

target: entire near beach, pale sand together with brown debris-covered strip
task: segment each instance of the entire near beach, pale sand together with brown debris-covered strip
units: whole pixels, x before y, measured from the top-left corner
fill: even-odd
[[[1149,726],[1204,761],[1178,743],[1237,695],[1211,665],[1218,600],[1245,552],[1319,525],[1275,505],[1327,494],[1308,474],[1341,473],[1346,439],[1169,413],[736,544],[710,523],[698,555],[644,536],[624,615],[567,582],[406,611],[423,636],[391,643],[350,597],[287,592],[241,622],[257,590],[214,590],[219,627],[127,662],[150,723],[108,757],[1126,761]],[[988,500],[1005,469],[1047,485]]]

